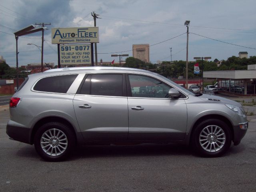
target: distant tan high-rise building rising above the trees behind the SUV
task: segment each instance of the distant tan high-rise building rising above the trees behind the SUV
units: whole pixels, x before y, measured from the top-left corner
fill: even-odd
[[[134,58],[140,59],[146,63],[149,60],[149,44],[134,44],[132,45],[132,56]]]

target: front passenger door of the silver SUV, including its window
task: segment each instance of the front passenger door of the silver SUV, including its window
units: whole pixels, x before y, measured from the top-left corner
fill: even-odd
[[[170,86],[148,76],[128,75],[129,140],[183,140],[187,126],[184,99],[166,98]]]

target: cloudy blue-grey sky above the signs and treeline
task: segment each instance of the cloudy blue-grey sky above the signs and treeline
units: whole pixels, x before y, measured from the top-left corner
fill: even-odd
[[[189,61],[206,56],[212,61],[226,60],[244,51],[255,56],[255,7],[255,0],[1,0],[0,55],[15,67],[13,33],[30,24],[51,23],[44,31],[44,62],[57,65],[57,45],[51,43],[51,28],[93,27],[91,12],[95,12],[100,17],[96,20],[98,62],[119,61],[111,57],[114,52],[132,56],[128,51],[132,44],[150,44],[152,63],[170,61],[171,54],[172,61],[186,60],[185,20],[190,20]],[[41,62],[40,50],[27,45],[41,46],[41,38],[42,32],[19,37],[19,66]]]

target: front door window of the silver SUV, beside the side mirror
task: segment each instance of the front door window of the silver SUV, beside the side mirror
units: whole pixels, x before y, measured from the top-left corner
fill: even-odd
[[[129,75],[132,97],[166,98],[171,87],[150,77]]]

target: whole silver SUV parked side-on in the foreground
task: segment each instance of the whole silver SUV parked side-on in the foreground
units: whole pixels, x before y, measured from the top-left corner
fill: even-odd
[[[76,144],[122,142],[178,142],[216,157],[247,128],[232,100],[194,94],[146,70],[79,67],[29,75],[10,99],[6,133],[60,161]]]

